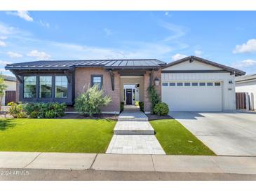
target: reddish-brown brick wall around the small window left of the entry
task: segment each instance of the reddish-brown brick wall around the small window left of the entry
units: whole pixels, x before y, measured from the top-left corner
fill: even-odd
[[[75,71],[75,96],[84,92],[90,87],[91,75],[103,76],[103,90],[112,97],[112,102],[107,107],[102,107],[101,111],[120,111],[120,76],[114,72],[114,90],[110,80],[109,72],[100,67],[76,68]]]

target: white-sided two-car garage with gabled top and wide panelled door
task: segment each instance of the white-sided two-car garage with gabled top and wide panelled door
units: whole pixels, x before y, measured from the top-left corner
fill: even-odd
[[[234,77],[243,73],[222,64],[186,57],[161,71],[161,97],[170,111],[236,109]]]

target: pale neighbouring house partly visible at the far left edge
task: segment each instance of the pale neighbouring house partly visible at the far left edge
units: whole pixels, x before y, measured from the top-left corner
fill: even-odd
[[[16,78],[14,76],[5,75],[2,75],[2,77],[4,78],[4,84],[7,85],[1,101],[1,106],[5,106],[8,102],[15,101]]]

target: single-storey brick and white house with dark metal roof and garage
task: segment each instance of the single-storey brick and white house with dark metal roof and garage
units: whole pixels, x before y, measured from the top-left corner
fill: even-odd
[[[222,111],[236,107],[235,76],[243,71],[186,57],[166,64],[160,60],[69,60],[7,64],[18,79],[21,102],[74,104],[79,93],[99,85],[112,102],[104,113],[119,113],[120,102],[144,102],[150,112],[147,88],[155,85],[170,111]]]

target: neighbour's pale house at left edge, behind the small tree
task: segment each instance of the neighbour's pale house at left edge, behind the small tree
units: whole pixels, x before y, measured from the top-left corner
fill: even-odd
[[[2,98],[1,106],[5,106],[7,104],[7,100],[9,99],[11,101],[11,97],[7,98],[6,100],[6,92],[8,92],[8,95],[11,96],[13,93],[15,93],[16,90],[16,78],[14,76],[5,76],[2,75],[4,78],[4,84],[7,85],[7,89],[5,90],[5,94]],[[14,100],[15,101],[15,100]]]

